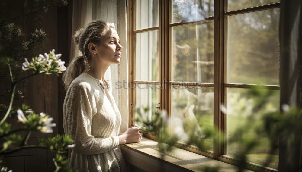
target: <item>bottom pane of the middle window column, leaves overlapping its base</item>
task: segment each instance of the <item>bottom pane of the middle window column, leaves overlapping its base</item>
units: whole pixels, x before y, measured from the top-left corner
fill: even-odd
[[[204,129],[213,130],[213,100],[214,89],[209,87],[190,87],[190,86],[172,86],[171,112],[172,121],[175,126],[182,126],[182,121],[190,119],[198,124],[201,132]],[[188,134],[183,133],[181,142],[188,141]],[[213,135],[206,138],[205,144],[209,146],[208,150],[213,151]]]

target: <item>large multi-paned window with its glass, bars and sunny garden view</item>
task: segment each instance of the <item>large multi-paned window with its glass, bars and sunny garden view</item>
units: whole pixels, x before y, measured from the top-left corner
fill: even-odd
[[[134,76],[130,81],[136,84],[130,90],[131,108],[148,106],[146,118],[151,120],[160,103],[175,125],[191,119],[201,130],[217,128],[204,140],[210,146],[199,153],[225,162],[243,150],[242,138],[258,139],[260,144],[247,154],[248,162],[262,166],[270,157],[271,163],[265,165],[276,169],[278,151],[269,152],[268,136],[255,131],[265,125],[263,114],[279,111],[279,2],[136,0],[131,4],[135,20],[131,23]],[[167,16],[169,20],[161,22]],[[160,40],[162,33],[169,34],[168,44]],[[160,52],[163,49],[168,49],[168,56]],[[169,89],[161,87],[163,80]],[[261,108],[257,107],[261,99],[250,94],[250,86],[267,96]],[[135,112],[131,113],[135,118]],[[250,117],[257,123],[238,133]],[[189,137],[183,133],[179,143]]]

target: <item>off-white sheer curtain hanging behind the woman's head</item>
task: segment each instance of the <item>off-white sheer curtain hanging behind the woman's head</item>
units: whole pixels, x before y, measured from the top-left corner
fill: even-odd
[[[128,89],[121,87],[122,83],[128,83],[126,0],[75,0],[72,3],[72,34],[92,20],[102,19],[117,25],[120,44],[123,46],[122,56],[120,64],[111,64],[105,78],[111,85],[110,91],[120,110],[122,116],[120,132],[124,133],[129,123]],[[81,55],[73,40],[70,55],[71,58]]]

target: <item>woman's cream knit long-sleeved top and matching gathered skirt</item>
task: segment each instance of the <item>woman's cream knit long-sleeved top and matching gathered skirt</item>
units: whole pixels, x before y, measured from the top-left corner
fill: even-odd
[[[88,73],[70,84],[63,105],[65,134],[75,140],[69,167],[79,171],[124,171],[118,134],[121,114],[102,81]]]

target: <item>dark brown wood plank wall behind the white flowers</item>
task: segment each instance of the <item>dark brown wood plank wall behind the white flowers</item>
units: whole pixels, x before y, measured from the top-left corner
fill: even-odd
[[[29,0],[31,4],[33,0]],[[23,6],[24,0],[0,0],[0,3],[7,3],[8,10],[5,16],[17,17],[27,14],[27,9]],[[51,1],[48,1],[51,2]],[[67,6],[56,7],[53,6],[48,12],[43,14],[41,19],[42,28],[45,31],[46,38],[44,45],[35,48],[34,51],[27,52],[32,56],[38,56],[55,49],[55,53],[61,53],[62,61],[65,65],[68,64],[70,38],[71,38],[71,17],[72,17],[72,1],[69,1]],[[22,34],[30,33],[33,29],[32,23],[28,21],[27,17],[11,20],[15,25],[18,25]],[[25,37],[27,37],[25,36]],[[31,57],[31,56],[30,56]],[[30,74],[31,71],[26,71]],[[46,112],[54,118],[56,127],[53,127],[53,133],[44,134],[41,132],[32,133],[27,144],[37,144],[37,137],[52,137],[57,133],[63,134],[62,111],[65,92],[62,85],[62,76],[57,77],[55,74],[38,75],[28,79],[28,82],[20,84],[16,90],[21,90],[25,96],[24,99],[15,101],[15,105],[25,103],[30,105],[36,112]],[[10,89],[10,84],[4,78],[0,78],[0,94],[5,90]],[[1,97],[1,103],[5,103],[5,99]],[[16,123],[16,119],[8,119],[13,127],[21,127],[22,123]],[[25,132],[20,132],[25,136]],[[52,158],[55,156],[53,152],[46,149],[26,149],[6,155],[4,158],[5,166],[13,171],[54,171],[55,165]],[[67,156],[67,155],[66,155]]]

